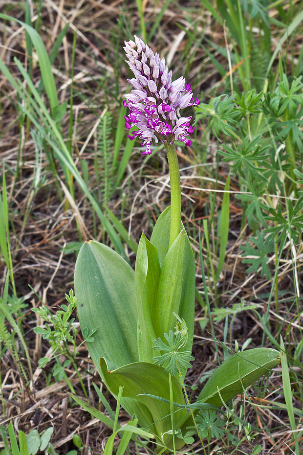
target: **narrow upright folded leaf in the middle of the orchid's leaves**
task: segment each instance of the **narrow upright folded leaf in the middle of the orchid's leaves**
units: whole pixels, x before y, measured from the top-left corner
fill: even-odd
[[[150,363],[152,362],[152,340],[155,338],[153,324],[157,323],[155,305],[160,273],[157,250],[143,233],[136,257],[135,294],[140,360]]]

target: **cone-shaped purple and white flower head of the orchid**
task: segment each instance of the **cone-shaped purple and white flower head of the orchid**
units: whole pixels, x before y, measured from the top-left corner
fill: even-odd
[[[191,145],[190,136],[195,130],[190,125],[192,117],[181,117],[180,109],[200,104],[197,98],[193,99],[192,86],[185,85],[183,77],[172,82],[172,71],[168,72],[165,59],[160,60],[140,38],[125,41],[124,49],[135,76],[129,79],[133,90],[125,95],[128,101],[123,101],[124,107],[130,109],[125,126],[139,128],[128,137],[143,140],[146,149],[142,155],[151,154],[152,139],[170,144],[180,140]]]

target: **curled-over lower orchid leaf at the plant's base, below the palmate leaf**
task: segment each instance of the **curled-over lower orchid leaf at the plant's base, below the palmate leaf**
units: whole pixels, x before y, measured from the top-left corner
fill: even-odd
[[[139,425],[144,428],[148,427],[162,443],[169,443],[172,436],[164,433],[171,430],[170,401],[159,403],[152,397],[140,395],[146,393],[161,395],[169,400],[169,379],[164,369],[146,362],[137,362],[108,372],[104,358],[100,359],[100,365],[102,374],[112,393],[117,395],[119,386],[123,386],[123,399],[125,400],[127,397],[130,400],[136,400],[141,405],[136,413]],[[182,388],[176,378],[172,378],[172,387],[175,401],[184,403]],[[176,410],[177,408],[175,408]],[[175,412],[176,429],[181,426],[186,416],[186,409]]]

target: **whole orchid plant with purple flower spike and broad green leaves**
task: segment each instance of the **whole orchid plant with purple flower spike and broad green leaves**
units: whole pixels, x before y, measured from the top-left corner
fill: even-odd
[[[175,432],[186,434],[195,424],[192,408],[220,407],[279,364],[280,353],[260,348],[231,356],[212,374],[196,404],[189,404],[184,378],[193,361],[195,258],[181,222],[174,142],[191,144],[192,117],[181,111],[199,100],[194,101],[183,77],[172,80],[164,58],[141,39],[135,36],[124,49],[134,75],[124,101],[126,127],[137,128],[129,137],[142,140],[143,155],[151,154],[152,141],[164,143],[171,206],[159,216],[151,240],[142,234],[134,271],[107,246],[83,245],[75,269],[77,311],[82,331],[95,330],[87,349],[108,389],[117,397],[123,386],[122,406],[154,434],[159,450],[175,451],[186,442],[175,440]]]

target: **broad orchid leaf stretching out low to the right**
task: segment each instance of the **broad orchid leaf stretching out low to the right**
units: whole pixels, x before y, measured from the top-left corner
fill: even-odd
[[[217,388],[223,400],[228,402],[242,393],[242,387],[250,386],[280,362],[280,352],[275,349],[256,348],[239,352],[216,368],[197,401],[220,407],[222,403]],[[238,375],[238,364],[241,378]]]

